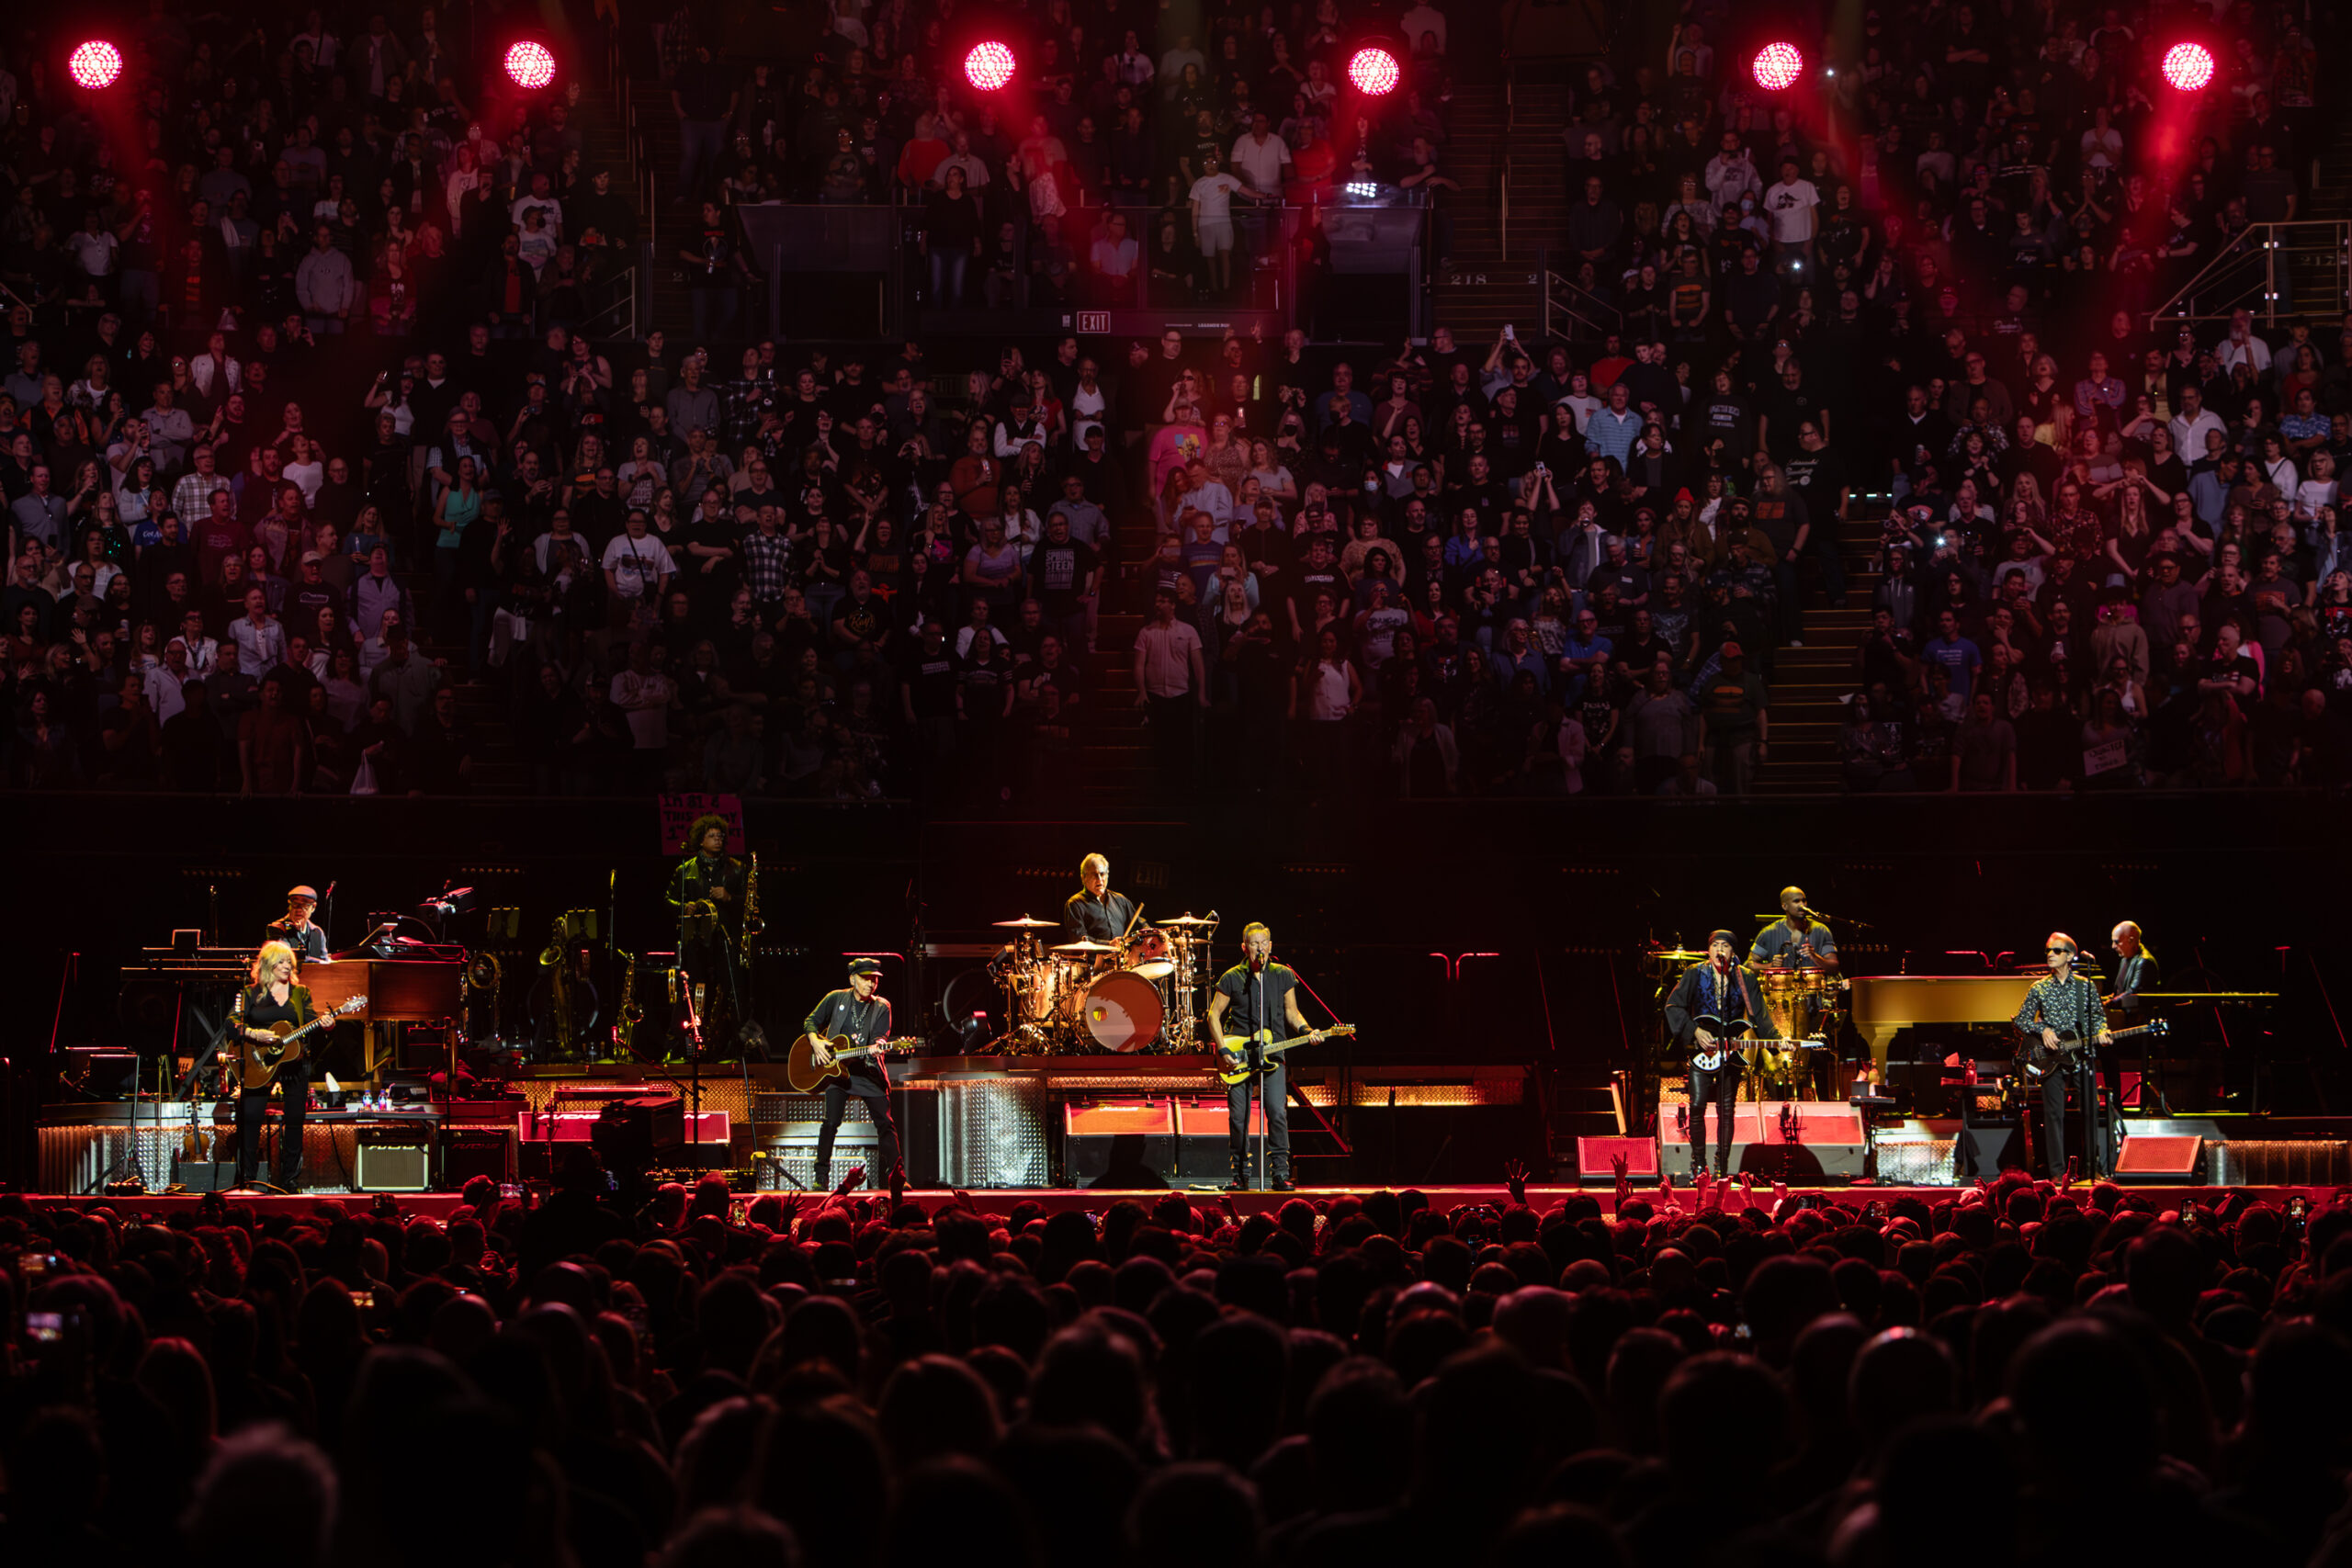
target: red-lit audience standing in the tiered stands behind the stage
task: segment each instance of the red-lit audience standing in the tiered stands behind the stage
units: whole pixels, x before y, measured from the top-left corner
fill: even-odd
[[[736,336],[753,200],[922,205],[934,303],[995,306],[1171,235],[1223,289],[1251,197],[1439,179],[1432,5],[1381,103],[1338,0],[1129,9],[1047,5],[1002,99],[903,0],[753,66],[699,0],[602,16],[677,113],[659,214],[579,75],[430,7],[158,9],[129,139],[12,42],[12,783],[1740,792],[1839,609],[1846,788],[2352,776],[2340,301],[2147,327],[2305,212],[2326,7],[2218,9],[2190,99],[2178,5],[1884,5],[1771,96],[1693,0],[1571,82],[1573,339]],[[602,336],[656,230],[694,339]]]

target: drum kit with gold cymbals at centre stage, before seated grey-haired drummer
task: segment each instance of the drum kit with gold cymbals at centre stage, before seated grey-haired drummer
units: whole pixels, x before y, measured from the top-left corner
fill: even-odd
[[[1195,1051],[1216,914],[1176,914],[1117,943],[1047,943],[1061,922],[993,922],[1014,938],[988,961],[1004,994],[997,1056]]]

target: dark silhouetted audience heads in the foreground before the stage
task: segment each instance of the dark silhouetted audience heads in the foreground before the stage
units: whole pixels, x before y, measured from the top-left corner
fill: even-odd
[[[2352,1554],[2340,1197],[743,1204],[623,1204],[586,1147],[445,1222],[5,1197],[0,1540],[198,1568]]]

